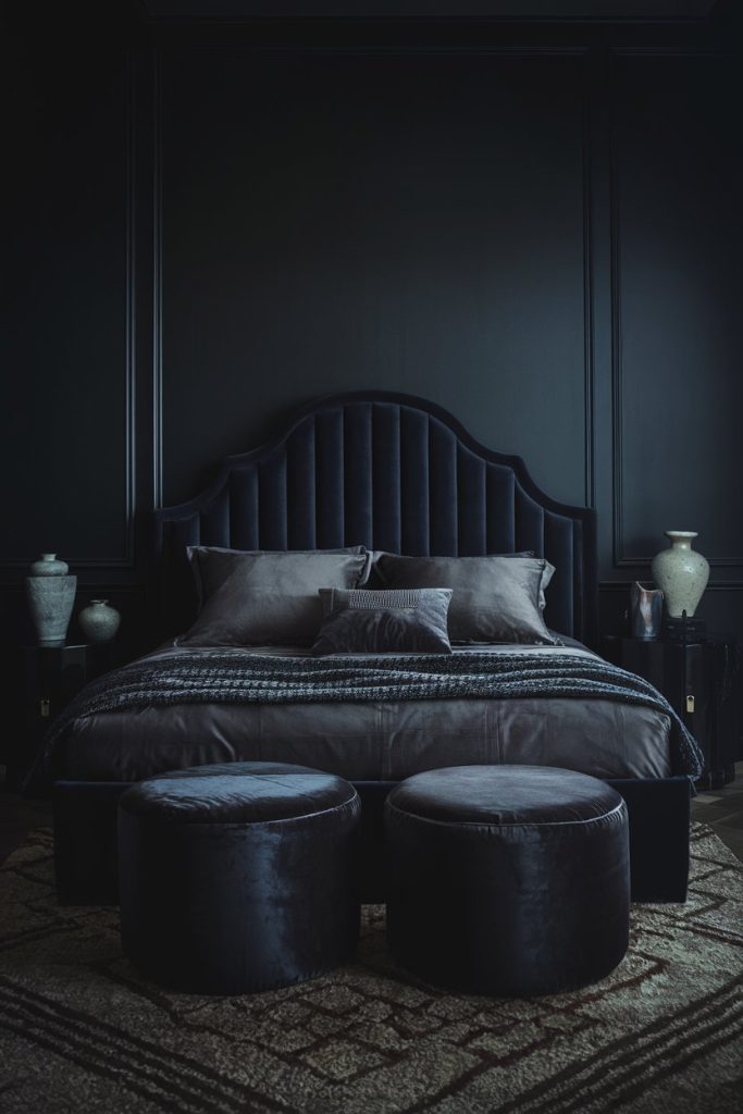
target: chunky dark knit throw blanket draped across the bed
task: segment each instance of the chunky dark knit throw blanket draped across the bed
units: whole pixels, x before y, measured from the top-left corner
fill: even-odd
[[[556,653],[290,657],[209,651],[144,658],[88,685],[49,729],[28,788],[48,781],[55,744],[99,712],[202,703],[319,703],[578,696],[655,709],[672,723],[675,773],[698,778],[700,747],[647,681],[598,657]]]

